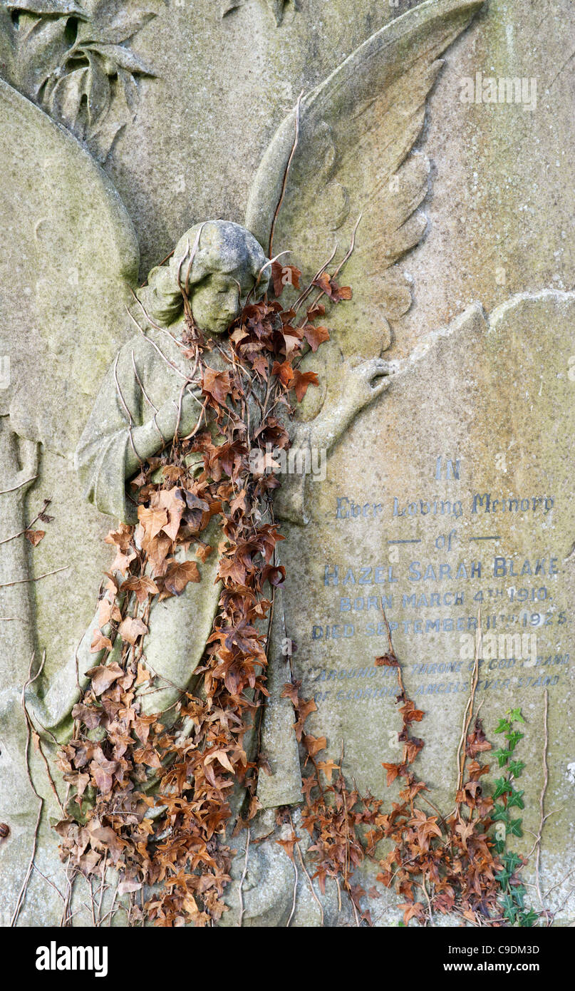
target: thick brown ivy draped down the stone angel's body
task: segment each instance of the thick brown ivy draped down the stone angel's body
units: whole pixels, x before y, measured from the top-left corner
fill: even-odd
[[[287,268],[299,290],[301,273]],[[217,921],[230,880],[229,827],[233,819],[248,823],[258,809],[266,624],[284,578],[272,502],[279,482],[266,457],[269,445],[289,446],[285,423],[294,393],[301,401],[309,385],[318,385],[316,373],[299,365],[330,337],[318,324],[322,297],[336,302],[350,295],[323,269],[284,310],[277,296],[285,272],[273,263],[276,298],[246,303],[230,329],[229,349],[204,338],[184,294],[181,348],[190,363],[188,385],[201,396],[198,421],[185,437],[176,430],[132,481],[138,526],[121,524],[106,538],[117,553],[92,644],[104,656],[88,672],[72,712],[73,736],[60,750],[72,797],[56,828],[73,870],[90,875],[109,862],[119,871],[118,891],[130,896],[133,924]],[[222,371],[205,361],[213,349]],[[262,452],[261,473],[249,458],[254,448]],[[201,456],[199,474],[190,455]],[[220,526],[217,547],[205,539],[213,519]],[[189,559],[190,549],[200,566]],[[169,712],[146,715],[143,690],[149,698],[158,684],[145,660],[150,608],[199,582],[201,563],[212,553],[219,555],[222,592],[194,686]],[[151,892],[147,901],[144,889]]]

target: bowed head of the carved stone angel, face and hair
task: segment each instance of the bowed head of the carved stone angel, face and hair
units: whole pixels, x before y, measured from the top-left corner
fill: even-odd
[[[155,320],[172,323],[190,300],[200,330],[223,334],[249,293],[267,288],[269,266],[249,231],[227,220],[196,224],[178,241],[169,265],[152,269],[147,304]]]

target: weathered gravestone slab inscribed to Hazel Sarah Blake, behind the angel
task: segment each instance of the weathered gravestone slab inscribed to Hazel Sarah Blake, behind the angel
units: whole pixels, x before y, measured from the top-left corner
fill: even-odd
[[[319,900],[300,872],[294,894],[275,841],[289,842],[285,822],[273,832],[286,806],[313,873],[281,688],[301,680],[317,706],[306,730],[387,811],[398,788],[382,763],[402,751],[395,671],[375,665],[387,622],[425,712],[418,773],[444,814],[478,652],[475,711],[495,745],[499,719],[522,710],[514,848],[527,856],[548,816],[539,887],[559,925],[572,918],[572,32],[568,0],[1,4],[3,925],[57,925],[70,904],[74,925],[94,924],[90,882],[72,890],[52,828],[66,799],[57,743],[45,736],[45,759],[23,689],[42,662],[40,701],[63,698],[110,567],[113,521],[83,497],[74,451],[134,337],[134,291],[211,217],[266,256],[291,252],[302,281],[353,247],[338,276],[352,298],[306,359],[320,377],[297,428],[311,477],[288,475],[276,496],[271,774],[257,844],[237,840],[222,925],[354,924],[334,886]],[[365,370],[382,357],[371,394]],[[54,518],[33,547],[22,531],[47,499]],[[532,881],[532,855],[526,870]],[[377,858],[357,870],[377,889],[365,907],[396,925],[402,899],[377,873]],[[104,914],[127,925],[109,898]]]

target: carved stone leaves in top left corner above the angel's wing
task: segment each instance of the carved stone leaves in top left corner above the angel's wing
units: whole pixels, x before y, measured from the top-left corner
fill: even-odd
[[[153,5],[99,0],[6,0],[0,5],[4,78],[68,128],[98,161],[134,119],[138,79],[155,75],[130,42]]]

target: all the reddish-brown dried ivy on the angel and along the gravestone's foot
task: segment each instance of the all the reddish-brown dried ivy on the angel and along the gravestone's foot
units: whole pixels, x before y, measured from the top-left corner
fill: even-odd
[[[71,797],[56,829],[72,873],[103,879],[108,863],[117,869],[116,897],[128,896],[131,925],[214,925],[227,910],[231,837],[260,808],[266,652],[274,590],[285,578],[276,557],[283,538],[273,515],[280,483],[269,450],[289,447],[286,425],[294,399],[301,401],[310,385],[318,385],[316,373],[299,366],[307,350],[316,352],[330,338],[317,322],[325,314],[322,297],[339,302],[351,295],[324,268],[284,310],[278,297],[286,268],[300,289],[299,270],[274,262],[274,297],[247,301],[230,328],[229,349],[204,338],[184,294],[179,343],[190,363],[187,385],[201,397],[198,420],[191,433],[181,437],[176,430],[173,441],[142,463],[131,483],[139,523],[121,524],[106,538],[116,558],[92,644],[104,656],[88,672],[88,687],[72,711],[72,738],[59,753]],[[206,362],[214,349],[220,370]],[[249,414],[253,405],[255,417]],[[261,452],[257,469],[250,457],[254,448]],[[216,547],[207,539],[215,532],[212,520],[220,532]],[[191,560],[191,550],[197,560]],[[161,682],[145,658],[150,609],[200,582],[201,564],[213,553],[219,555],[222,591],[202,664],[175,704],[144,711],[143,699],[152,698]],[[315,862],[310,883],[317,879],[325,892],[332,878],[339,895],[348,896],[356,923],[369,925],[364,896],[379,895],[375,888],[363,890],[356,869],[366,858],[381,857],[382,845],[391,840],[377,880],[394,886],[403,899],[405,925],[412,919],[427,925],[436,912],[459,914],[473,925],[509,924],[500,901],[502,878],[511,897],[521,886],[523,861],[514,855],[511,867],[502,863],[491,832],[501,816],[481,785],[489,765],[477,758],[492,747],[478,718],[471,728],[476,677],[458,752],[454,810],[443,816],[412,769],[425,744],[411,727],[425,714],[408,697],[390,633],[388,652],[375,663],[395,669],[402,716],[402,760],[383,764],[388,785],[403,780],[400,802],[388,813],[382,800],[349,788],[343,755],[339,763],[323,756],[326,737],[306,731],[316,706],[301,698],[293,673],[284,687],[304,756],[301,825],[310,834],[308,857]],[[421,808],[422,801],[434,815]],[[300,837],[289,809],[280,809],[276,818],[278,826],[292,826],[291,835],[277,842],[294,859]]]

